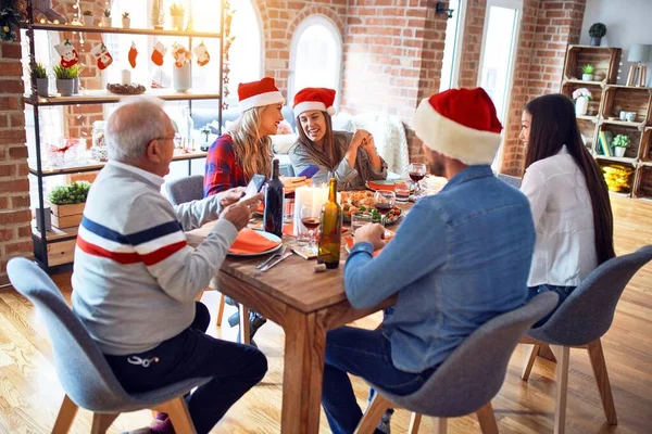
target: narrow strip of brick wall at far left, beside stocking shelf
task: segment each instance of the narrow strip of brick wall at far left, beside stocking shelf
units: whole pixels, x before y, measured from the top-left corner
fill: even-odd
[[[5,284],[8,260],[32,254],[18,42],[0,42],[0,284]]]

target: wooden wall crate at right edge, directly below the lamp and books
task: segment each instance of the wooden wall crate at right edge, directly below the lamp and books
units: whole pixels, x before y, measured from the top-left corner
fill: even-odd
[[[607,85],[602,97],[601,116],[603,119],[618,117],[620,111],[636,112],[636,120],[623,124],[643,127],[652,124],[652,89],[630,86]],[[610,120],[622,123],[622,120]]]

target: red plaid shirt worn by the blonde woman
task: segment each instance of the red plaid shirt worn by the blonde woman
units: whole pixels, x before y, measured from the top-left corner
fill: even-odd
[[[209,149],[204,174],[204,197],[234,187],[247,187],[247,179],[242,167],[236,161],[233,139],[224,133]]]

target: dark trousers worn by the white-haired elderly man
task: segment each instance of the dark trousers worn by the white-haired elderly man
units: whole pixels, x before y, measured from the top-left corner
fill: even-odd
[[[203,304],[196,304],[195,321],[176,336],[149,352],[104,357],[128,393],[211,376],[213,380],[186,397],[195,427],[201,434],[211,431],[230,406],[263,379],[267,359],[251,345],[205,334],[211,316]]]

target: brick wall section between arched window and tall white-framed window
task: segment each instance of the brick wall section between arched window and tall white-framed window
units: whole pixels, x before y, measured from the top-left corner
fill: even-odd
[[[409,120],[422,98],[439,89],[447,21],[432,2],[349,1],[342,107],[384,112],[404,120],[410,155],[423,158]]]

